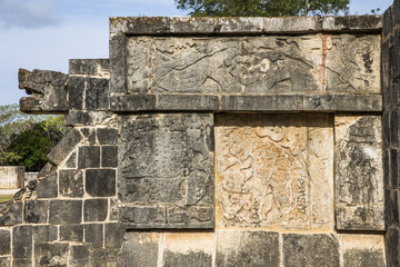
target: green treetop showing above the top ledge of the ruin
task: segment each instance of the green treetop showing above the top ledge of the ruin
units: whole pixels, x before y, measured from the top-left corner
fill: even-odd
[[[348,13],[350,0],[176,0],[192,17],[284,17]]]

